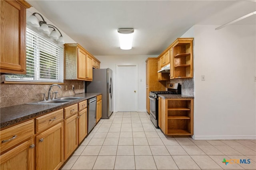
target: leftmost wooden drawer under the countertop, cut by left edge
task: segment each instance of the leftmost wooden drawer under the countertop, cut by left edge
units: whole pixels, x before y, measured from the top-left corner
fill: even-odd
[[[34,120],[1,131],[1,152],[34,135]]]

